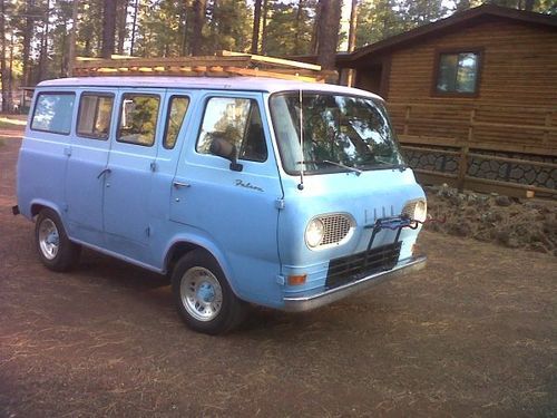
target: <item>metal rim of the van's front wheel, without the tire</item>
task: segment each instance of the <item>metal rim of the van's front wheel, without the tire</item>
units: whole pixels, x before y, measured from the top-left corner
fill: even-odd
[[[187,313],[198,321],[212,321],[221,312],[223,289],[215,275],[205,268],[192,268],[186,271],[182,278],[179,293]]]

